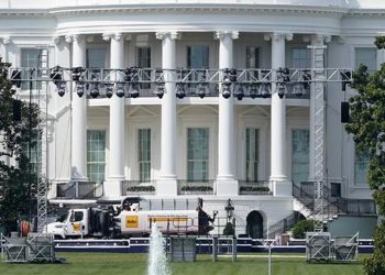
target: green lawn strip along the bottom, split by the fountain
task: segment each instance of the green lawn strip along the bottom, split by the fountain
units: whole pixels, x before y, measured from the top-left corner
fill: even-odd
[[[251,255],[251,254],[249,254]],[[292,254],[285,254],[292,255]],[[140,275],[146,274],[146,254],[106,254],[106,253],[57,253],[57,257],[67,258],[67,264],[7,264],[0,263],[1,275]],[[273,258],[273,272],[277,275],[353,275],[363,274],[362,260],[354,264],[307,264],[305,258]],[[267,258],[240,257],[232,263],[230,258],[219,258],[212,263],[209,255],[199,255],[195,263],[172,263],[173,274],[191,275],[264,275],[267,274]]]

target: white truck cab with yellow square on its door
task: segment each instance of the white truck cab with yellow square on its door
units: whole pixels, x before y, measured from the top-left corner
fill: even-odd
[[[47,224],[47,233],[65,239],[66,237],[84,237],[89,233],[88,209],[70,209],[63,222]]]

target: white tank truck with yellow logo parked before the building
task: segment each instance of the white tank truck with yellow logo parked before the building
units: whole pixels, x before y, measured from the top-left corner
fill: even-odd
[[[146,237],[156,222],[161,232],[208,234],[212,229],[212,218],[202,210],[202,202],[197,210],[142,211],[140,199],[129,197],[121,207],[98,206],[68,210],[64,221],[47,226],[47,232],[56,238],[130,238]]]

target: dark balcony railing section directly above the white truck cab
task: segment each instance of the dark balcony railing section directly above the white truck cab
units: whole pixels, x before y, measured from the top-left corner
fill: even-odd
[[[68,182],[56,184],[56,198],[97,199],[102,196],[102,184],[95,182]]]

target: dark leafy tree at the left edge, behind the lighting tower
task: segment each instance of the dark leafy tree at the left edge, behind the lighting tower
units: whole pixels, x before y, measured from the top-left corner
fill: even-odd
[[[9,67],[0,57],[0,228],[6,228],[6,232],[15,230],[15,221],[31,216],[35,208],[31,200],[36,194],[37,177],[28,147],[36,146],[40,122],[36,105],[14,98]],[[11,161],[6,162],[7,158]]]

